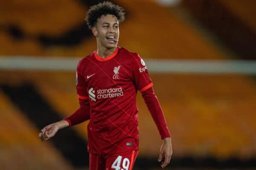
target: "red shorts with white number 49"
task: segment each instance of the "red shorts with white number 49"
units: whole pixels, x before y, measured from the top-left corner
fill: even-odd
[[[90,170],[132,170],[138,151],[95,155],[90,153]]]

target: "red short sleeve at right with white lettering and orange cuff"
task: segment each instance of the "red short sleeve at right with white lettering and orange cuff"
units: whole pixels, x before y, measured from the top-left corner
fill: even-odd
[[[143,92],[148,88],[151,88],[153,86],[153,83],[148,75],[147,66],[144,60],[140,57],[139,54],[134,54],[133,57],[134,57],[134,61],[133,61],[134,63],[132,65],[133,79],[134,79],[136,88],[140,92]]]

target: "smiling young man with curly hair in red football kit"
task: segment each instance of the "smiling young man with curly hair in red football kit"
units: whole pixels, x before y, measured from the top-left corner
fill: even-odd
[[[163,139],[158,161],[164,156],[161,167],[166,167],[172,156],[171,136],[145,62],[138,54],[117,46],[123,9],[110,2],[99,3],[90,8],[86,20],[96,37],[97,50],[77,66],[80,108],[70,117],[44,127],[40,139],[48,140],[59,129],[90,119],[90,170],[131,170],[139,150],[139,90]]]

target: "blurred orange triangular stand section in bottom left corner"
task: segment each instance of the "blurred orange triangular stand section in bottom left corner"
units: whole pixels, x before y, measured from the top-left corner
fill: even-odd
[[[38,129],[0,90],[0,167],[9,170],[71,170],[58,150],[41,144]],[[58,163],[56,163],[58,162]]]

